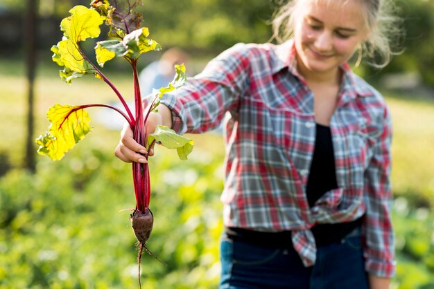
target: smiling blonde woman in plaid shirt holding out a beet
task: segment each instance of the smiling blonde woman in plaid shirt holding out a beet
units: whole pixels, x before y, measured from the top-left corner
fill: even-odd
[[[148,132],[202,133],[227,115],[220,288],[388,288],[390,113],[347,64],[388,62],[383,4],[290,1],[273,23],[287,41],[237,44],[153,113]],[[144,152],[126,126],[116,156]]]

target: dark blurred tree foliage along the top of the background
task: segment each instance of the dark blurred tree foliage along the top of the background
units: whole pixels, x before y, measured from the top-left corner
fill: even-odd
[[[237,42],[269,41],[272,35],[269,22],[278,3],[279,0],[143,0],[143,6],[138,10],[144,15],[143,25],[150,28],[152,37],[164,49],[177,46],[195,57],[209,59]],[[67,17],[68,10],[78,4],[89,6],[89,1],[40,1],[40,49],[48,51],[59,41],[60,19]],[[359,72],[372,81],[387,73],[415,72],[424,83],[434,86],[434,0],[399,0],[395,4],[396,14],[403,19],[405,37],[402,41],[394,41],[392,46],[402,54],[393,57],[390,65],[381,71],[362,62]],[[7,46],[8,39],[15,46],[23,41],[23,37],[16,37],[16,31],[21,25],[19,17],[24,5],[25,1],[14,0],[3,0],[0,4],[0,24],[5,22],[2,26],[6,27],[5,43],[0,48]],[[8,12],[15,16],[1,17],[2,13],[7,15]],[[16,23],[12,26],[10,21]],[[19,49],[15,47],[15,50]]]

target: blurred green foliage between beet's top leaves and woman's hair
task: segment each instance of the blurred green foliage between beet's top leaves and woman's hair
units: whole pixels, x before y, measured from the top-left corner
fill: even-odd
[[[165,46],[220,53],[237,42],[265,42],[275,8],[263,0],[143,1],[144,25]],[[167,17],[171,15],[171,17]],[[163,20],[164,19],[164,20]]]

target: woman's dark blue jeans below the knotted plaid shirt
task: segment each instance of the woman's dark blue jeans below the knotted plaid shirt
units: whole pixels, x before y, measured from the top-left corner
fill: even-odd
[[[228,239],[220,243],[220,289],[368,289],[361,236],[318,248],[304,267],[293,248],[264,248]]]

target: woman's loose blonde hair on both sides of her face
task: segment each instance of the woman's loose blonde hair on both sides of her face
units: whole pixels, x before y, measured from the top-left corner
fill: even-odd
[[[297,3],[305,0],[280,1],[280,8],[272,19],[272,39],[284,42],[293,35],[297,13]],[[336,0],[329,0],[336,1]],[[345,0],[356,1],[356,0]],[[401,19],[394,16],[393,0],[357,0],[363,5],[366,28],[370,30],[369,37],[356,51],[356,66],[363,57],[367,64],[382,68],[390,62],[392,55],[399,54],[392,50],[390,43],[399,42],[403,36]],[[285,3],[287,2],[287,3]]]

